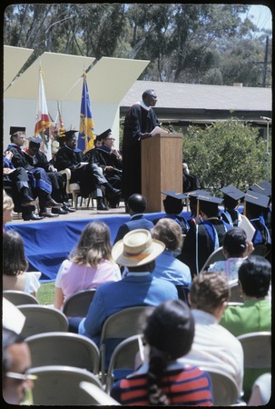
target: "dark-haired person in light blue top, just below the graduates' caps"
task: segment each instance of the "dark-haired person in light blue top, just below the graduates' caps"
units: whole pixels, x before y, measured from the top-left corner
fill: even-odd
[[[224,273],[229,281],[238,280],[239,267],[253,250],[253,244],[248,243],[245,231],[241,227],[232,227],[222,238],[225,260],[211,264],[208,271]]]

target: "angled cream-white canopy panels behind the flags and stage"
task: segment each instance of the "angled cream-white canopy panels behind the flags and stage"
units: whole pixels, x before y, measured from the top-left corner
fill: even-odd
[[[64,127],[78,130],[83,71],[92,65],[87,85],[94,132],[101,134],[111,128],[118,145],[120,102],[150,61],[103,57],[93,64],[93,57],[44,53],[13,81],[32,52],[4,46],[4,148],[9,143],[10,126],[25,126],[26,135],[34,135],[40,66],[49,114],[55,119],[58,102]]]

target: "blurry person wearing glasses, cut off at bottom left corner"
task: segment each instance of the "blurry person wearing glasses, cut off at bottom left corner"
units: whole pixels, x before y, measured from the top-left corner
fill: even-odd
[[[31,353],[25,340],[20,334],[3,328],[2,394],[6,404],[24,403],[25,395],[34,387],[34,375],[27,374],[31,364]]]

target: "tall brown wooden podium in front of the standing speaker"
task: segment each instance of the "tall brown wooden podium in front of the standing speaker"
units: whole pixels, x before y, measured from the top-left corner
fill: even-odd
[[[147,213],[162,212],[162,191],[182,193],[182,134],[159,134],[142,140],[142,195]]]

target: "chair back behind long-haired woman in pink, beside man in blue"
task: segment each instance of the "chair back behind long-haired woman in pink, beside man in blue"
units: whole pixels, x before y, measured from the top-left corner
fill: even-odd
[[[89,306],[92,303],[95,289],[79,291],[68,297],[64,302],[63,313],[69,316],[84,317],[87,315]]]

